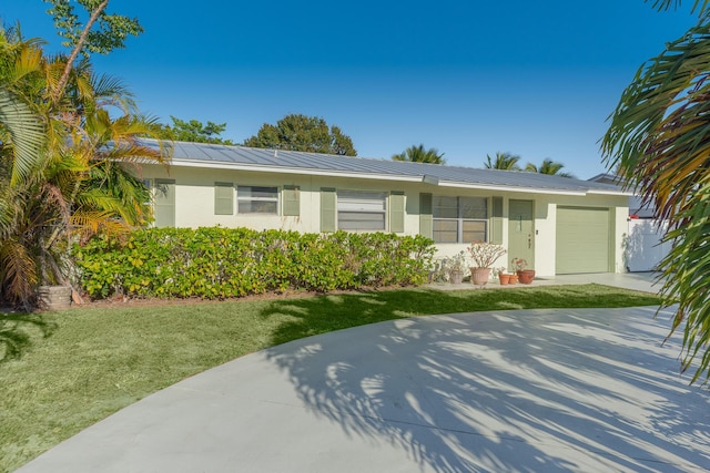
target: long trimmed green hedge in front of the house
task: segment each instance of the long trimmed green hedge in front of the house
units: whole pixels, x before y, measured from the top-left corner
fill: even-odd
[[[268,291],[408,286],[426,280],[430,239],[385,233],[150,228],[75,246],[92,298],[241,297]]]

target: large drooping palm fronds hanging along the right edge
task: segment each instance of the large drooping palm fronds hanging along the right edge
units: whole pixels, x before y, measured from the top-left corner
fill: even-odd
[[[680,0],[658,0],[659,10]],[[694,1],[698,23],[642,64],[623,91],[601,143],[608,168],[667,220],[672,249],[660,263],[661,309],[682,327],[682,371],[710,379],[710,8]]]

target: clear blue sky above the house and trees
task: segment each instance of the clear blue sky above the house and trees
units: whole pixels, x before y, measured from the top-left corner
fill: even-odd
[[[589,178],[626,85],[696,18],[642,0],[227,2],[112,0],[145,32],[94,56],[143,112],[226,123],[235,142],[290,113],[323,117],[358,156],[410,145],[449,165],[509,152]],[[60,48],[48,4],[0,0],[6,24]]]

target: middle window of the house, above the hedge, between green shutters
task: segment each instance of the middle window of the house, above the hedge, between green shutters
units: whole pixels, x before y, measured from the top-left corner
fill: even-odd
[[[337,228],[341,230],[384,230],[387,194],[338,191]]]

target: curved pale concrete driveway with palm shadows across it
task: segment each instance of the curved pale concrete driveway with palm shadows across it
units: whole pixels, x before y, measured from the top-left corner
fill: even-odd
[[[710,395],[670,313],[521,310],[294,341],[158,392],[20,472],[689,472]]]

